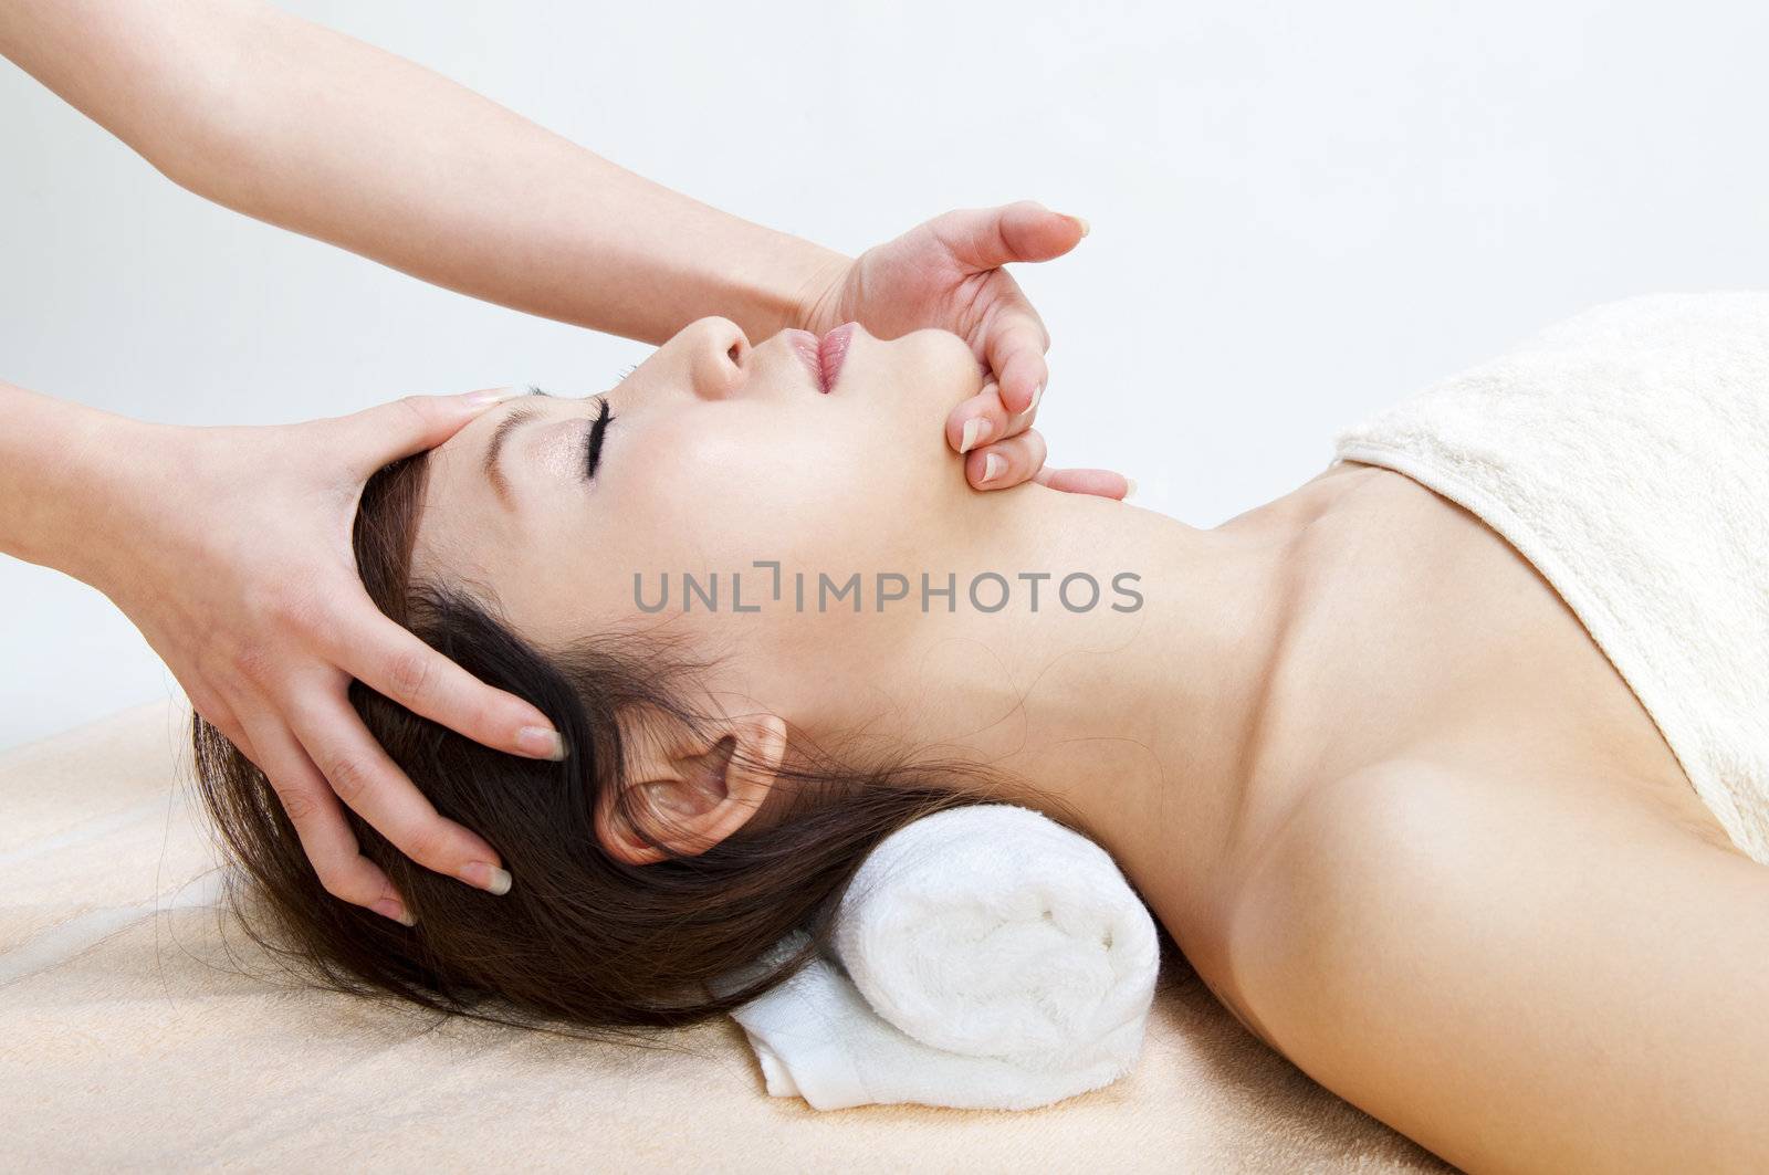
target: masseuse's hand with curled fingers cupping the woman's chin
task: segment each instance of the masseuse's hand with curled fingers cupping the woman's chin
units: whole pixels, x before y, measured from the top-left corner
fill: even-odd
[[[860,322],[879,338],[922,327],[953,331],[984,366],[984,389],[952,411],[946,439],[966,453],[978,490],[1037,480],[1058,490],[1123,497],[1130,483],[1104,469],[1045,469],[1044,437],[1031,430],[1049,379],[1051,336],[1010,262],[1044,262],[1088,235],[1086,221],[1022,200],[998,209],[936,216],[867,250],[833,273],[800,315],[817,334]]]

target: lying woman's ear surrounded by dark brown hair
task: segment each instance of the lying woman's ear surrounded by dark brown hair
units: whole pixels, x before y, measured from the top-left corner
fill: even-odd
[[[624,795],[596,805],[596,835],[616,860],[649,865],[697,856],[755,816],[785,757],[785,722],[745,715],[692,733],[644,731],[632,741]]]

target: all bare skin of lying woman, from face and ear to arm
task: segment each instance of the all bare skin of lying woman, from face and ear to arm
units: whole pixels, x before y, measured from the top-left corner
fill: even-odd
[[[1452,1163],[1760,1166],[1769,869],[1534,568],[1366,465],[1214,529],[976,494],[939,425],[978,380],[950,334],[860,331],[819,389],[789,336],[702,320],[609,393],[593,476],[600,398],[501,405],[442,446],[416,561],[543,646],[637,623],[713,655],[724,726],[628,763],[676,851],[770,819],[768,764],[800,745],[971,757],[1076,814],[1252,1032]],[[635,616],[635,573],[752,559],[1134,572],[1145,603],[1065,611],[1047,582],[999,611]],[[655,860],[607,810],[603,849]]]

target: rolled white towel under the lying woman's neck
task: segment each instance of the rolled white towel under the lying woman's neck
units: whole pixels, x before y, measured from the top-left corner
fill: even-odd
[[[1111,856],[1012,805],[886,837],[842,899],[833,947],[734,1012],[768,1092],[817,1110],[1030,1110],[1109,1085],[1141,1053],[1160,963]]]

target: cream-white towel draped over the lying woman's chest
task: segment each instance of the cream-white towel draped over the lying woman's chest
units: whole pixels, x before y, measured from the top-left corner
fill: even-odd
[[[1769,294],[1604,303],[1336,437],[1504,534],[1769,864]]]

